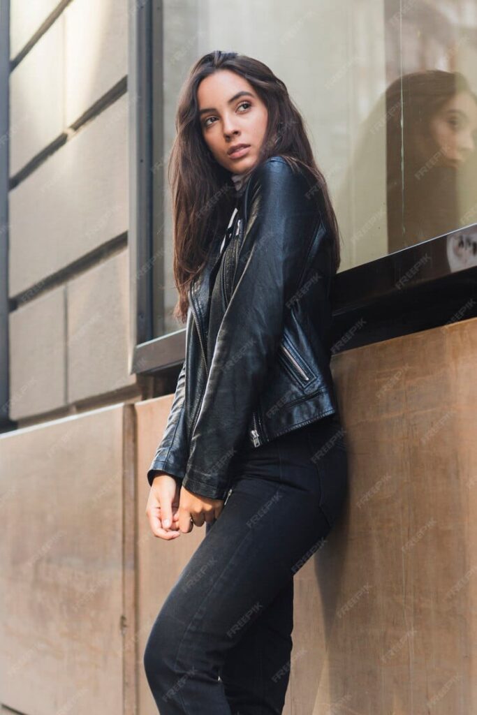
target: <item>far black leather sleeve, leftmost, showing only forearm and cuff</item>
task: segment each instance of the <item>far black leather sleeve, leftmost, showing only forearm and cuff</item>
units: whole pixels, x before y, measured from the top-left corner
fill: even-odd
[[[188,445],[185,423],[185,361],[177,378],[177,387],[167,418],[162,440],[147,471],[147,480],[152,485],[156,471],[160,470],[182,481],[187,464]]]

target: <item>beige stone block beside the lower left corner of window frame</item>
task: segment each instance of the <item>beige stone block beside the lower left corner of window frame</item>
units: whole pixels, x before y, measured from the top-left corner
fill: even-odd
[[[67,305],[68,401],[134,385],[127,250],[69,281]]]

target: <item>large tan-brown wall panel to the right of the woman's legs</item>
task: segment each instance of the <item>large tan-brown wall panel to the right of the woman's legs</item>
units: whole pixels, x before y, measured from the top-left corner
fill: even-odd
[[[349,494],[295,576],[292,713],[477,709],[477,319],[332,367]]]

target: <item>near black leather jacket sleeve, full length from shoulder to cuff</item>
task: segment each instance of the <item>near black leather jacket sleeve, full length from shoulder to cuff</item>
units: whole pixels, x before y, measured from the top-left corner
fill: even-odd
[[[281,157],[270,157],[250,177],[240,277],[217,333],[182,481],[197,495],[225,498],[230,460],[275,360],[286,303],[297,289],[319,220],[308,188],[303,174]]]

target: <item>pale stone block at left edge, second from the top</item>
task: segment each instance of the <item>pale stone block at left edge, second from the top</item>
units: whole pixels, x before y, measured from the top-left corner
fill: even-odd
[[[10,174],[64,129],[64,17],[54,22],[10,75]]]

